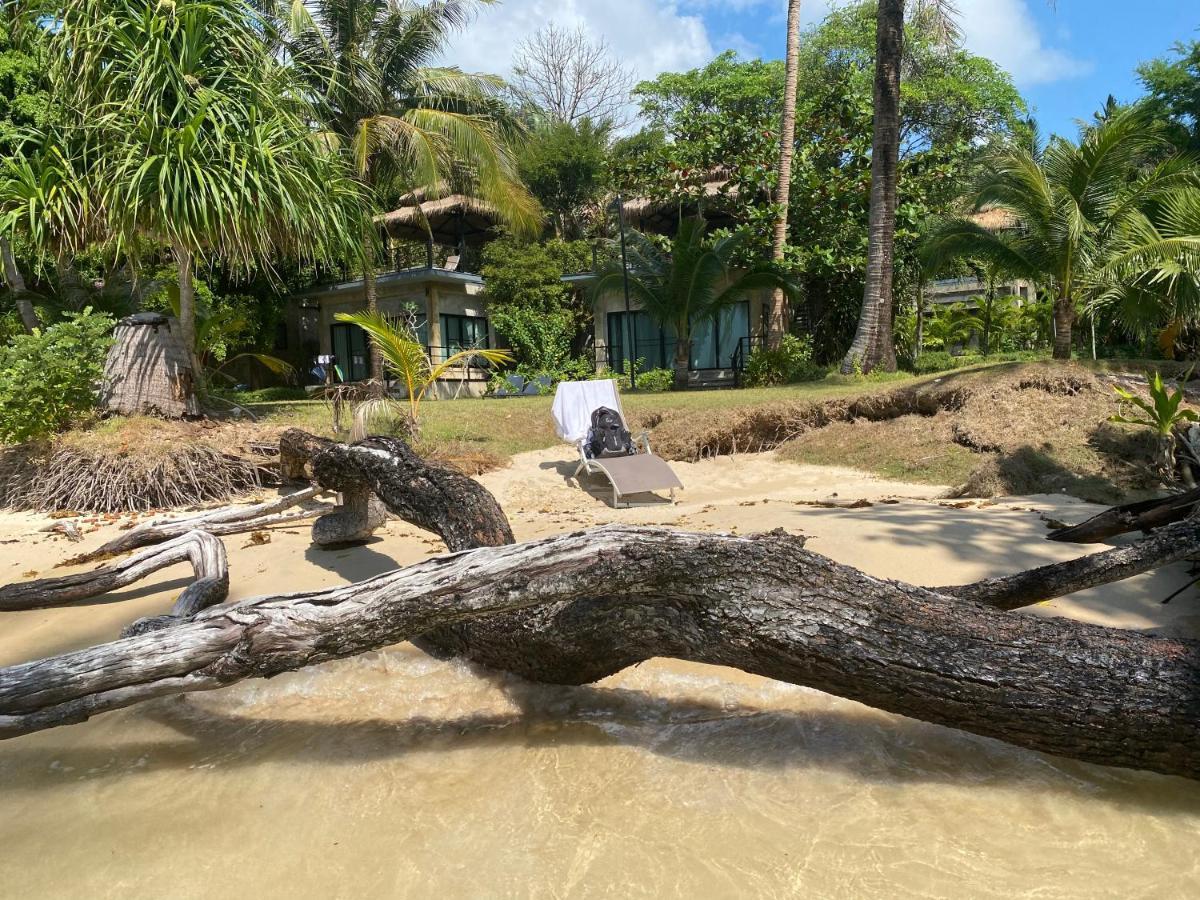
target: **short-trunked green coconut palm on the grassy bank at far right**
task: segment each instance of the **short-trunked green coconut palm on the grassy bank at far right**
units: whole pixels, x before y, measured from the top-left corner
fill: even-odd
[[[988,161],[972,200],[976,210],[1007,210],[1015,227],[946,222],[924,241],[925,264],[936,270],[950,259],[976,258],[1046,286],[1054,293],[1054,355],[1069,359],[1079,304],[1111,294],[1116,266],[1136,259],[1132,229],[1145,229],[1147,210],[1194,184],[1195,167],[1184,157],[1147,164],[1164,146],[1162,132],[1130,108],[1086,126],[1079,143],[1055,137],[1044,150],[1008,148]]]

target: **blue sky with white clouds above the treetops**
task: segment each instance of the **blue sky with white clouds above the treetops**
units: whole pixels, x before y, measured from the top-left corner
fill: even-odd
[[[836,0],[802,0],[805,23]],[[966,46],[1008,70],[1043,131],[1074,134],[1109,94],[1140,94],[1134,68],[1200,40],[1200,1],[956,0]],[[500,0],[449,60],[506,74],[512,48],[548,20],[602,37],[638,77],[703,65],[726,48],[779,58],[786,0]]]

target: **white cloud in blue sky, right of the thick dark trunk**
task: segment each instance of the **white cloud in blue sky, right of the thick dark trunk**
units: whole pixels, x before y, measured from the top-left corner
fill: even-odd
[[[962,43],[1007,70],[1020,88],[1075,78],[1093,64],[1048,47],[1026,0],[958,0]]]

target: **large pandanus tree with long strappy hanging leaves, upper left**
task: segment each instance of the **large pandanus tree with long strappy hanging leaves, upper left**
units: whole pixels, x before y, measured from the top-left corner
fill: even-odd
[[[6,163],[0,210],[43,248],[103,233],[169,247],[196,347],[198,264],[269,269],[344,256],[361,198],[239,0],[48,7],[64,121]]]

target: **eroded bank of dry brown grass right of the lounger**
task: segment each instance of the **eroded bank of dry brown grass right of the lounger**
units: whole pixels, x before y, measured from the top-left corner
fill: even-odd
[[[785,458],[954,485],[964,496],[1066,491],[1116,502],[1154,487],[1144,430],[1109,422],[1117,401],[1080,365],[1014,364],[822,402],[647,416],[668,458],[779,448]]]

